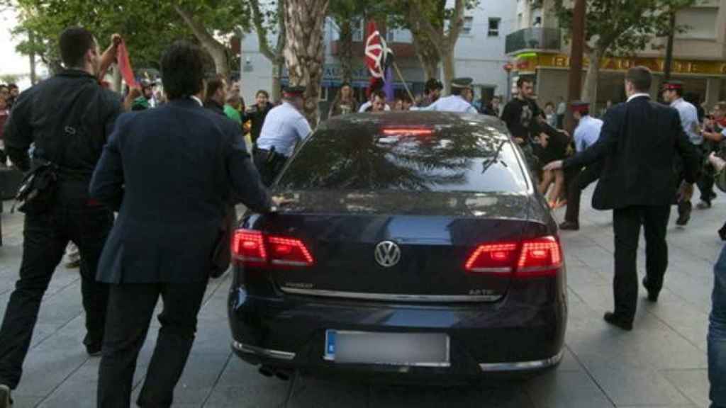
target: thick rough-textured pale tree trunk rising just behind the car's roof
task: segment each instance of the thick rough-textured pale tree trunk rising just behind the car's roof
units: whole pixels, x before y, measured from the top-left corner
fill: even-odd
[[[305,86],[303,113],[312,127],[318,121],[323,71],[323,28],[330,0],[287,0],[285,64],[290,85]]]

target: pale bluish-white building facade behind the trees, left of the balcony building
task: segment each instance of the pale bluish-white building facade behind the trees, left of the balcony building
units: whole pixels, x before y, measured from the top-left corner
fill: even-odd
[[[449,1],[453,7],[453,1]],[[491,99],[495,94],[503,95],[507,89],[507,72],[503,66],[508,61],[505,54],[505,38],[515,30],[515,0],[481,1],[474,9],[468,10],[462,27],[462,33],[455,49],[455,67],[457,76],[473,78],[476,100],[484,97]],[[364,100],[365,88],[370,76],[364,66],[364,25],[363,20],[354,24],[354,70],[353,83],[359,100]],[[325,66],[321,92],[321,111],[335,99],[342,84],[342,67],[338,58],[340,44],[339,28],[333,19],[325,23]],[[388,46],[393,49],[396,64],[409,89],[415,94],[423,93],[425,78],[423,68],[416,56],[409,30],[392,29],[385,33]],[[276,43],[274,36],[271,44]],[[439,74],[441,77],[442,74]],[[282,84],[287,83],[287,72],[282,70]],[[242,96],[251,103],[258,89],[272,89],[272,63],[261,54],[256,33],[249,33],[242,40],[242,58],[240,67],[242,80]],[[396,94],[403,94],[404,81],[396,76],[394,89]]]

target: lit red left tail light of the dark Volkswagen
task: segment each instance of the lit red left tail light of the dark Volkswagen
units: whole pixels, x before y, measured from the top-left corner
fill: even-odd
[[[293,237],[237,229],[232,239],[232,256],[246,266],[312,266],[310,250]]]

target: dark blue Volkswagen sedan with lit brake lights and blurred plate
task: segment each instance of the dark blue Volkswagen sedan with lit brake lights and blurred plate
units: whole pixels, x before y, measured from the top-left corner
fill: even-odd
[[[536,371],[562,356],[557,227],[503,124],[322,123],[234,234],[232,348],[266,373]]]

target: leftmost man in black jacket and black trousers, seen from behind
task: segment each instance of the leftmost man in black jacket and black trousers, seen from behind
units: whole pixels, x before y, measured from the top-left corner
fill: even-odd
[[[115,52],[115,48],[113,49]],[[105,327],[108,289],[95,279],[113,213],[88,196],[91,175],[122,107],[97,80],[99,49],[91,33],[68,28],[60,36],[62,73],[20,94],[4,131],[10,160],[23,171],[44,161],[58,166],[54,200],[45,211],[25,214],[20,280],[0,329],[0,408],[22,374],[38,309],[68,241],[81,251],[81,292],[86,338],[99,354]],[[33,162],[28,156],[35,144]]]

